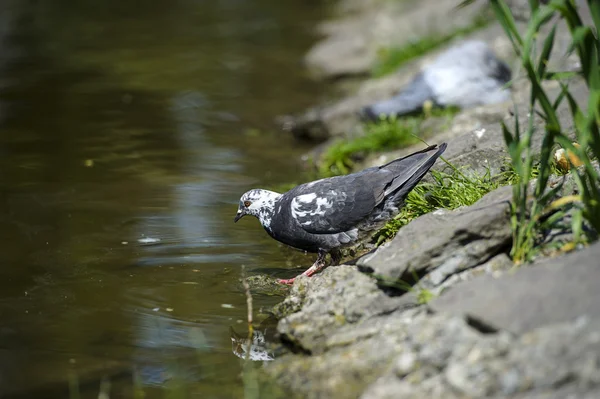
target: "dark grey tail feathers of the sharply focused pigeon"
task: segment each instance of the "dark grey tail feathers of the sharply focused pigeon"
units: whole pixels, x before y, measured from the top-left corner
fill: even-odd
[[[392,195],[391,201],[397,204],[404,200],[408,193],[421,181],[423,176],[431,169],[435,161],[442,155],[448,145],[446,143],[433,145],[422,151],[415,152],[404,158],[396,159],[382,166],[382,169],[391,170],[398,174],[390,186],[385,190],[384,196]],[[432,151],[436,150],[434,153]]]

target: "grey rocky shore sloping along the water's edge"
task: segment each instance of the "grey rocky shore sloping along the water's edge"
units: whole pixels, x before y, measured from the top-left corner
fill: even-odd
[[[521,3],[514,1],[513,10],[526,19]],[[444,155],[458,167],[499,173],[508,157],[499,122],[512,126],[516,116],[526,119],[528,81],[519,78],[497,23],[465,29],[489,13],[487,2],[458,11],[456,4],[338,2],[338,17],[321,26],[325,37],[309,51],[306,65],[319,78],[360,83],[337,101],[285,118],[286,128],[299,139],[326,143],[360,135],[362,107],[391,97],[457,42],[483,40],[516,75],[511,100],[462,109],[427,140],[447,141]],[[453,37],[457,30],[469,33]],[[378,62],[377,49],[432,35],[448,40],[394,74],[366,78]],[[576,67],[567,56],[570,41],[559,24],[551,63],[561,70]],[[570,88],[585,104],[583,82],[573,79]],[[559,93],[558,84],[547,89]],[[559,118],[573,130],[566,105]],[[536,123],[542,128],[541,120]],[[542,135],[534,139],[539,150]],[[422,147],[369,155],[361,165]],[[559,183],[559,196],[576,192],[569,177],[552,177],[551,185]],[[284,353],[265,363],[266,378],[306,398],[600,397],[600,244],[546,251],[517,267],[508,255],[511,199],[512,188],[504,186],[471,206],[423,215],[353,264],[298,278],[273,310]],[[415,276],[418,284],[407,289],[405,282]]]

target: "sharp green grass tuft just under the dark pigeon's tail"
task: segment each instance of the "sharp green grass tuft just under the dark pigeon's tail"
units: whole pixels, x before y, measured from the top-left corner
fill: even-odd
[[[496,188],[506,185],[504,176],[495,178],[489,171],[484,175],[467,176],[457,167],[448,164],[451,173],[431,171],[431,182],[418,184],[407,196],[400,213],[390,220],[373,239],[377,245],[393,238],[401,227],[413,219],[436,209],[456,209],[473,205],[481,197]]]

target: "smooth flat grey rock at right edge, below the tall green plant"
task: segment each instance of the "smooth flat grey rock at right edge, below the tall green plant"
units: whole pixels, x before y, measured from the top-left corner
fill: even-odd
[[[600,320],[599,258],[600,242],[513,275],[486,275],[459,283],[430,306],[516,334],[582,315]]]

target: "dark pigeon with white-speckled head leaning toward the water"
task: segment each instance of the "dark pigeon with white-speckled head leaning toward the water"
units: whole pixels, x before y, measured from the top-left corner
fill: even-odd
[[[368,239],[397,215],[446,146],[433,145],[383,166],[301,184],[284,194],[252,189],[240,198],[234,222],[255,216],[275,240],[317,253],[315,263],[302,273],[310,277],[327,266],[327,254],[331,265],[339,264],[340,249]]]

